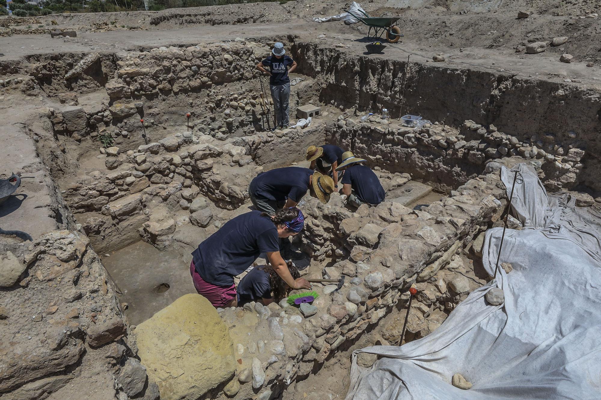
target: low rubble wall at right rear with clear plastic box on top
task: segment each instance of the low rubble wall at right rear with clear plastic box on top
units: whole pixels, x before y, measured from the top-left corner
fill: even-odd
[[[409,172],[442,190],[454,189],[475,177],[487,160],[519,156],[534,160],[541,179],[550,190],[572,189],[584,168],[585,151],[575,137],[557,141],[555,135],[532,135],[519,139],[492,124],[465,121],[459,130],[442,124],[404,127],[399,120],[370,117],[339,118],[326,126],[326,140],[349,148],[373,166],[394,172]]]

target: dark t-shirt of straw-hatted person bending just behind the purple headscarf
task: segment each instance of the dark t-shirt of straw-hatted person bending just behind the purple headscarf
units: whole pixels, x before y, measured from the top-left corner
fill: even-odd
[[[248,191],[259,199],[285,201],[291,198],[299,202],[307,194],[313,173],[313,170],[301,167],[276,168],[261,172],[251,181]]]

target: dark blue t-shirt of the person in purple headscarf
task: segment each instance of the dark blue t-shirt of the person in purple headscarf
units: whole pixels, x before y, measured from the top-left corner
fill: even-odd
[[[278,229],[270,217],[250,211],[230,219],[192,252],[200,276],[218,286],[230,286],[261,253],[279,251]]]

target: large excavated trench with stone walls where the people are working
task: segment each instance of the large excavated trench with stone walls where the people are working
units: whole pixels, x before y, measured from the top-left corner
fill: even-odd
[[[335,353],[399,344],[413,283],[420,294],[406,340],[436,329],[488,279],[472,241],[498,223],[505,199],[500,164],[487,162],[526,160],[551,189],[601,189],[591,178],[599,168],[591,92],[290,41],[299,63],[291,119],[301,106],[321,108],[304,129],[264,129],[254,65],[269,49],[251,41],[36,56],[23,83],[22,91],[55,100],[29,135],[133,325],[194,292],[190,253],[249,210],[248,184],[259,172],[307,166],[306,148],[325,143],[376,171],[386,191],[378,207],[353,210],[337,194],[328,205],[306,198],[302,206],[306,228],[293,241],[306,255],[302,274],[346,277],[340,291],[316,285],[327,291],[317,314],[278,305],[219,311],[238,362],[235,375],[209,390],[213,398],[254,359],[266,384],[253,389],[240,378],[239,398],[266,390],[267,398],[298,398],[288,385]],[[383,108],[391,119],[382,120]],[[582,118],[566,127],[576,111]],[[431,123],[404,126],[405,114]]]

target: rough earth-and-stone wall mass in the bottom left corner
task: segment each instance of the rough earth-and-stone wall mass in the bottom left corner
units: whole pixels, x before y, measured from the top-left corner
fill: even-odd
[[[87,398],[121,387],[157,398],[144,367],[126,356],[120,302],[82,232],[52,231],[1,258],[0,395]]]

